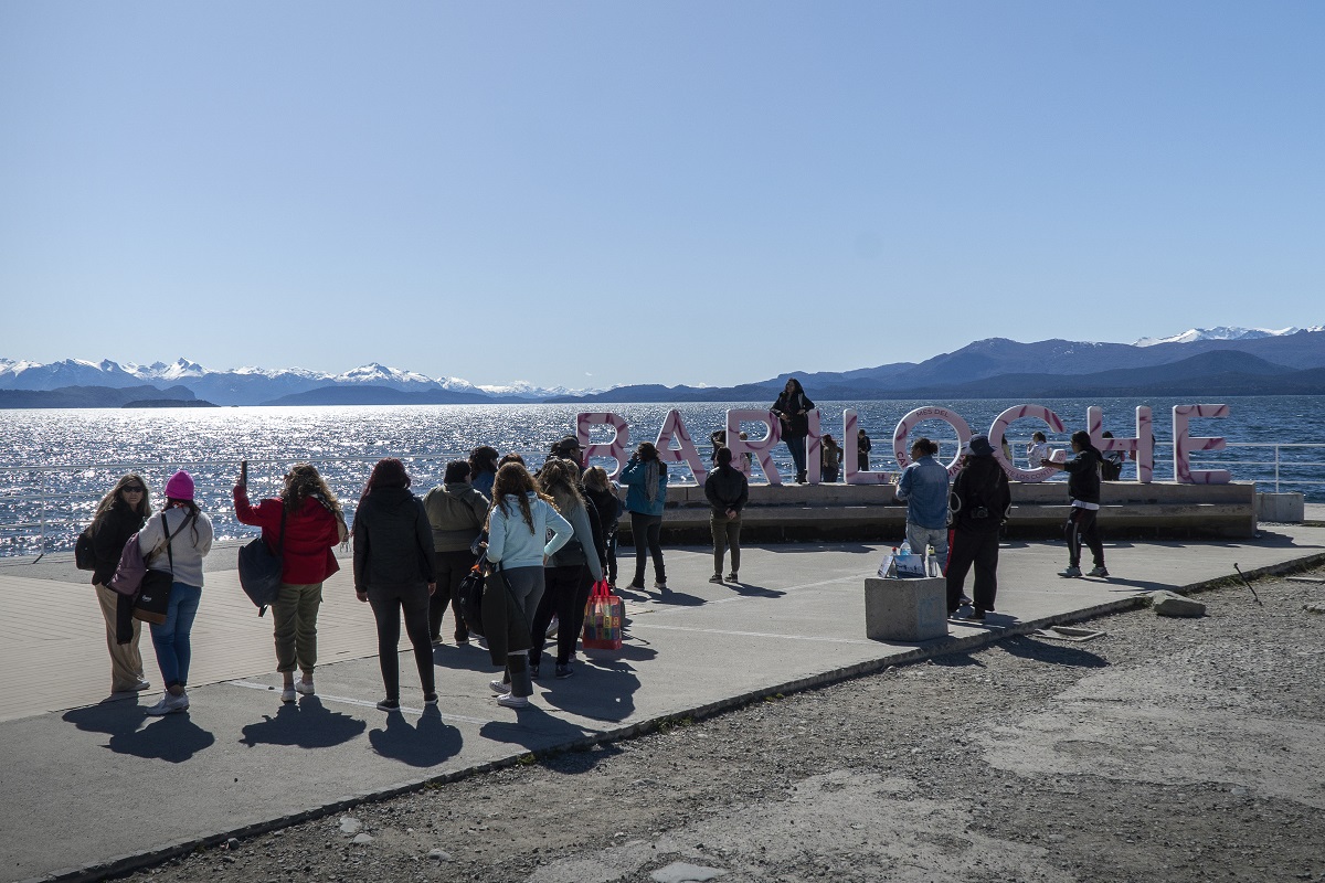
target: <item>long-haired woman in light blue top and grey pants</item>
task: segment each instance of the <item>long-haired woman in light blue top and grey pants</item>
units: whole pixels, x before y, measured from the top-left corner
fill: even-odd
[[[553,539],[547,539],[547,532]],[[543,563],[574,535],[553,506],[538,491],[534,477],[519,463],[506,463],[493,482],[493,508],[488,515],[488,564],[501,565],[484,588],[484,631],[494,665],[505,665],[500,680],[492,682],[497,703],[525,708],[534,692],[529,676],[530,625],[543,597]]]

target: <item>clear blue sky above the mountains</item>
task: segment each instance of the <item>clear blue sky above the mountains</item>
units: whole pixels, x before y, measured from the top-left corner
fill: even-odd
[[[731,384],[1325,322],[1325,4],[0,4],[0,356]]]

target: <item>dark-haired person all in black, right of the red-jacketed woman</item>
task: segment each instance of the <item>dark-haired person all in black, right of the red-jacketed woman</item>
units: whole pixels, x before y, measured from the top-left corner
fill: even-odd
[[[378,663],[387,696],[382,711],[400,710],[400,616],[413,646],[425,706],[437,704],[428,639],[428,598],[437,589],[432,527],[409,474],[395,457],[379,459],[354,512],[354,593],[372,606]]]

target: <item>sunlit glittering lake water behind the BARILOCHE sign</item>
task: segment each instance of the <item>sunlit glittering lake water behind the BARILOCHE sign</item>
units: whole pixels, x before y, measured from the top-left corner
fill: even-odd
[[[808,391],[814,392],[814,391]],[[984,432],[1012,400],[969,401],[859,401],[819,402],[823,430],[841,437],[841,412],[855,408],[860,425],[873,438],[872,467],[898,469],[892,458],[892,432],[913,408],[941,405],[955,410],[973,432]],[[1105,428],[1117,436],[1133,436],[1134,409],[1154,410],[1155,479],[1171,481],[1171,424],[1175,404],[1191,400],[1044,400],[1068,428],[1085,426],[1085,409],[1104,409]],[[1195,436],[1222,436],[1230,445],[1312,443],[1313,447],[1281,447],[1280,490],[1296,490],[1313,502],[1325,502],[1325,396],[1279,396],[1226,398],[1227,418],[1194,420]],[[768,402],[684,404],[677,409],[692,438],[708,455],[708,437],[721,428],[729,408],[766,408]],[[352,502],[380,457],[409,459],[415,488],[437,483],[447,459],[462,458],[469,449],[489,443],[505,453],[522,453],[531,465],[542,463],[543,451],[555,440],[575,432],[582,410],[610,410],[629,424],[632,443],[652,441],[670,405],[423,405],[343,408],[207,408],[207,409],[69,409],[0,410],[0,555],[34,553],[72,548],[73,537],[86,524],[97,500],[129,469],[142,471],[154,488],[184,466],[199,485],[199,500],[213,518],[217,535],[249,535],[233,520],[229,490],[238,461],[250,463],[254,496],[272,494],[285,467],[299,459],[319,462],[333,488]],[[749,429],[757,430],[751,425]],[[1023,420],[1008,437],[1020,455],[1026,441],[1041,421]],[[608,441],[608,429],[592,441]],[[953,455],[955,438],[942,422],[922,424],[914,434],[941,442],[941,458]],[[913,434],[913,437],[914,437]],[[1049,433],[1049,443],[1067,447],[1067,434]],[[775,455],[783,475],[791,459],[786,447]],[[1261,490],[1275,490],[1273,447],[1238,447],[1203,454],[1198,467],[1223,467],[1235,481],[1256,481]],[[611,461],[603,461],[611,469]],[[1129,465],[1124,478],[1134,475]],[[690,481],[689,470],[673,471],[673,481]],[[758,477],[757,477],[757,481]],[[348,507],[352,508],[352,507]],[[34,526],[34,527],[33,527]],[[37,537],[44,532],[45,540]]]

